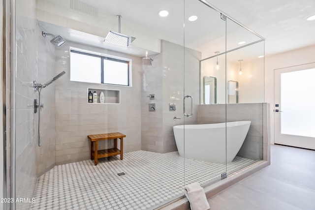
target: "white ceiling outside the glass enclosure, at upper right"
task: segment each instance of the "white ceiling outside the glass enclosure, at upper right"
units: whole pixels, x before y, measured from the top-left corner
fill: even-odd
[[[315,45],[315,0],[207,0],[263,36],[265,54]]]

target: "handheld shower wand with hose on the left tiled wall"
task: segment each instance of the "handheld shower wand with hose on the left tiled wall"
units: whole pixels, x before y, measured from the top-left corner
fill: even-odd
[[[57,76],[55,76],[53,79],[51,79],[50,81],[48,81],[47,83],[45,83],[44,85],[40,84],[40,83],[36,83],[36,81],[33,81],[33,87],[35,91],[38,91],[38,103],[37,103],[37,99],[34,100],[34,112],[37,113],[37,109],[38,109],[38,147],[41,146],[41,132],[40,132],[40,112],[41,109],[44,108],[44,104],[40,103],[40,92],[43,88],[46,88],[47,86],[49,86],[50,84],[52,84],[53,82],[55,82],[56,80],[58,80],[60,77],[62,77],[65,74],[65,71],[61,72],[60,74],[58,74]]]

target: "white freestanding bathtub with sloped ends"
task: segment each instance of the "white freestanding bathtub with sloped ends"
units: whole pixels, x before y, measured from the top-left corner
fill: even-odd
[[[230,163],[241,149],[250,125],[251,121],[175,125],[173,131],[181,157],[213,163],[225,163],[226,160]]]

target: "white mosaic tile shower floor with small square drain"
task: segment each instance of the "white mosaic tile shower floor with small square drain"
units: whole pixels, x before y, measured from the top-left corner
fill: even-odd
[[[235,157],[227,173],[253,162]],[[58,165],[38,178],[31,210],[151,210],[181,197],[184,185],[220,179],[225,169],[177,151],[143,150],[125,153],[124,160],[99,159],[96,166],[94,160]]]

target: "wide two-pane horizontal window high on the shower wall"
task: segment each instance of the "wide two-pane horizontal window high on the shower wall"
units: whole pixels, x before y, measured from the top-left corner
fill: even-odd
[[[70,81],[129,86],[129,61],[71,50]]]

